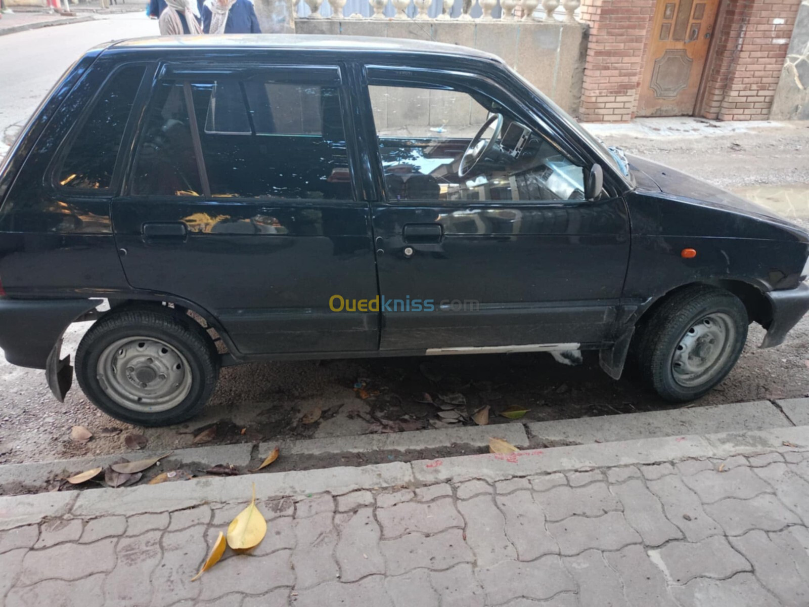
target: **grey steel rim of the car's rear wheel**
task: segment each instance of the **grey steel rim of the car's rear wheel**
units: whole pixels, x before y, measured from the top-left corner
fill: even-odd
[[[191,367],[174,346],[154,337],[125,337],[101,353],[96,364],[101,389],[118,405],[159,413],[180,404],[191,391]]]

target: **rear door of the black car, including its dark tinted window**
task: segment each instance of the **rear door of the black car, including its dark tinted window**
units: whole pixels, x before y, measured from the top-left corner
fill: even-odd
[[[161,66],[125,195],[129,284],[193,302],[241,355],[375,350],[370,212],[354,187],[339,66]]]

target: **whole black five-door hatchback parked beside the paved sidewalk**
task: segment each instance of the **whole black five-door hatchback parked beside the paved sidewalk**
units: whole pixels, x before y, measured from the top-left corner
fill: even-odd
[[[0,171],[0,346],[113,417],[223,365],[599,350],[687,401],[807,312],[809,236],[605,148],[498,57],[206,36],[91,50]],[[108,308],[100,304],[106,300]]]

